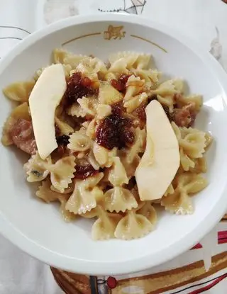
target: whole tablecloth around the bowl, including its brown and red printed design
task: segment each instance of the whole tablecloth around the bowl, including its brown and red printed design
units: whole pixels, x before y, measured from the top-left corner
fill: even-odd
[[[227,1],[0,0],[0,57],[4,57],[29,33],[60,18],[112,11],[142,14],[153,21],[181,30],[185,35],[201,43],[201,46],[211,52],[227,70],[227,3],[225,2]],[[55,283],[49,266],[23,253],[1,236],[0,248],[0,294],[63,293]],[[212,264],[211,256],[213,256]],[[210,266],[210,270],[206,271]],[[85,288],[82,289],[87,289],[86,287],[89,288],[91,283],[96,283],[98,290],[80,289],[82,293],[196,294],[206,291],[206,293],[226,294],[226,268],[227,217],[204,237],[195,249],[143,273],[116,277],[115,280],[109,277],[97,279],[70,276],[62,271],[55,269],[53,271],[60,283],[75,282],[74,285],[84,283]],[[118,282],[115,285],[116,281]]]

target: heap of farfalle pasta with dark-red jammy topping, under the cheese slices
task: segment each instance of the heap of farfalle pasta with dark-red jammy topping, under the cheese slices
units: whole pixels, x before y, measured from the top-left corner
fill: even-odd
[[[94,219],[94,240],[131,240],[149,234],[157,223],[157,205],[177,215],[193,213],[192,196],[208,185],[203,174],[209,169],[206,152],[213,140],[209,132],[194,128],[202,96],[186,95],[182,79],[161,81],[162,73],[148,54],[117,52],[104,62],[55,49],[52,62],[62,71],[64,94],[53,108],[51,122],[47,120],[55,148],[45,157],[39,146],[51,140],[46,136],[36,144],[30,98],[48,67],[40,67],[30,81],[16,81],[3,89],[17,105],[4,124],[1,142],[29,154],[24,170],[28,183],[39,182],[35,195],[45,203],[59,202],[65,221]],[[177,142],[179,167],[161,196],[148,200],[140,195],[137,171],[141,165],[157,165],[155,148],[160,146],[150,132],[147,112],[153,101],[162,108]],[[157,120],[156,136],[161,125]],[[166,149],[168,136],[160,140]],[[157,185],[162,184],[162,174]],[[150,190],[146,193],[153,195]]]

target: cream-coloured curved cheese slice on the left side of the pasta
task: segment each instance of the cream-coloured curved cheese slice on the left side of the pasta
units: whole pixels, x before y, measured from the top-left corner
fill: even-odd
[[[43,70],[29,97],[35,141],[42,159],[57,148],[55,109],[65,93],[66,86],[62,64],[52,64]]]

